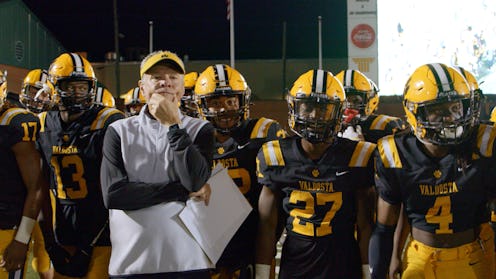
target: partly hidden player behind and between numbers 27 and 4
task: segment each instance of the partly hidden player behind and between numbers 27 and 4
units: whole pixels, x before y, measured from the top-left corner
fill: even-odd
[[[379,90],[358,70],[344,70],[336,75],[346,93],[343,113],[343,137],[377,143],[377,140],[403,130],[400,118],[375,114],[379,107]]]

